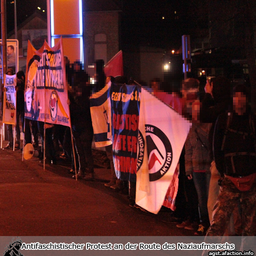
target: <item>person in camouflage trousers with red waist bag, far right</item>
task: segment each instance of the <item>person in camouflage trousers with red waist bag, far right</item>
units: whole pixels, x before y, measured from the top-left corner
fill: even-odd
[[[221,114],[215,125],[214,158],[222,178],[207,236],[223,236],[238,205],[242,236],[256,234],[256,121],[248,101],[247,88],[242,84],[234,87],[232,111]]]

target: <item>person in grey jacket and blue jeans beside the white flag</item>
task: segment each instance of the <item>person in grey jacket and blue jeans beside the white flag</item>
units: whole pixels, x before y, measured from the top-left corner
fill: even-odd
[[[185,142],[185,168],[187,178],[194,181],[198,196],[200,225],[195,234],[205,235],[210,226],[207,210],[211,162],[208,143],[210,124],[199,122],[199,112],[200,102],[194,102],[192,104],[194,123]],[[183,225],[189,224],[189,221],[183,223]]]

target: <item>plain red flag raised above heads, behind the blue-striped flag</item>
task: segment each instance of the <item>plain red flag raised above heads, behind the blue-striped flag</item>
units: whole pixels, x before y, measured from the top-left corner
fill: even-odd
[[[119,51],[108,63],[106,63],[104,72],[108,76],[123,76],[123,52]]]

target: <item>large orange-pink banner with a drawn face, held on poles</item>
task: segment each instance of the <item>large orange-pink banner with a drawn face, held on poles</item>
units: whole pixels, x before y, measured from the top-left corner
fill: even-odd
[[[25,118],[70,126],[62,40],[36,51],[28,41]]]

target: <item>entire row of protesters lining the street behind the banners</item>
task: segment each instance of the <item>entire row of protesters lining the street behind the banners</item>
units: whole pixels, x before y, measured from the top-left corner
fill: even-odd
[[[92,181],[94,159],[90,96],[92,92],[100,91],[110,80],[117,83],[129,81],[125,77],[106,78],[102,60],[95,62],[92,79],[84,72],[79,61],[70,65],[67,57],[65,60],[72,133],[67,126],[24,118],[25,74],[19,71],[16,86],[16,140],[13,142],[12,125],[8,125],[9,143],[4,149],[13,148],[15,143],[15,149],[22,150],[20,120],[25,132],[24,144],[33,143],[39,149],[41,142],[41,161],[56,164],[59,157],[72,159],[69,173],[73,178]],[[9,69],[7,74],[13,75],[13,72]],[[248,88],[244,84],[232,88],[224,76],[207,80],[204,92],[199,90],[200,82],[195,78],[186,79],[180,91],[165,93],[164,86],[166,83],[161,79],[153,79],[152,94],[193,124],[180,156],[176,210],[163,221],[176,223],[178,228],[194,230],[195,235],[199,236],[255,236],[256,123],[250,109]],[[116,190],[129,190],[129,205],[146,211],[135,203],[136,183],[124,182],[116,177],[112,146],[106,146],[105,152],[110,160],[111,175],[110,182],[104,185]]]

